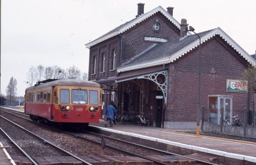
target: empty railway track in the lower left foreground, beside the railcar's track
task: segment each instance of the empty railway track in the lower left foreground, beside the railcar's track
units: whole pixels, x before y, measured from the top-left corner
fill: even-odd
[[[90,162],[86,162],[86,160],[83,160],[79,156],[76,156],[75,154],[69,153],[69,151],[66,151],[65,149],[62,149],[61,147],[58,147],[57,145],[54,145],[53,143],[47,141],[46,139],[36,135],[36,133],[32,133],[29,130],[26,130],[22,126],[15,124],[11,120],[8,120],[7,118],[4,118],[1,116],[2,122],[5,124],[5,128],[10,128],[10,124],[12,126],[15,126],[17,128],[15,130],[14,127],[13,130],[8,131],[3,130],[1,128],[1,131],[6,135],[6,137],[12,141],[12,143],[20,150],[32,164],[40,164],[41,162],[40,158],[44,156],[55,156],[55,157],[61,157],[61,156],[70,156],[71,158],[74,158],[74,162],[79,160],[80,162],[83,162],[84,164],[90,164]],[[3,121],[4,120],[4,121]],[[5,129],[4,128],[4,129]],[[17,136],[18,135],[18,136]],[[21,141],[29,141],[26,143],[26,146],[24,147],[23,143]],[[38,152],[41,151],[41,152]]]

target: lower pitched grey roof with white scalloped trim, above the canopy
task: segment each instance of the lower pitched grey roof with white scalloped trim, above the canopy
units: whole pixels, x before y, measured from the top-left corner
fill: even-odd
[[[198,34],[201,37],[201,43],[204,43],[208,39],[215,35],[220,35],[231,47],[233,47],[243,59],[247,60],[249,64],[255,66],[256,61],[246,51],[244,51],[238,43],[236,43],[230,36],[228,36],[221,28],[208,30]],[[148,68],[152,66],[158,66],[162,64],[168,64],[179,59],[192,49],[195,49],[199,45],[199,37],[197,35],[187,35],[183,39],[176,39],[169,41],[168,43],[161,43],[155,45],[151,50],[147,50],[144,54],[135,55],[135,58],[129,60],[129,63],[125,63],[119,68],[117,72],[127,72],[129,70],[137,70],[140,68]]]

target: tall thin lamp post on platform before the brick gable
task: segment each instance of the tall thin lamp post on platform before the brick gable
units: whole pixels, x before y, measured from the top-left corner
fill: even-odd
[[[195,29],[189,26],[189,32],[193,32],[197,37],[199,37],[199,66],[198,66],[198,95],[197,95],[197,137],[200,137],[200,114],[201,114],[201,37],[194,32]]]

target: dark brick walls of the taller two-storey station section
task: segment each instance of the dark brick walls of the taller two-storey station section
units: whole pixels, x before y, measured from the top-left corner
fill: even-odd
[[[160,30],[158,30],[158,32],[154,32],[154,30],[152,30],[152,26],[156,20],[160,24]],[[140,23],[140,26],[135,26],[127,30],[121,34],[121,36],[117,35],[111,39],[107,39],[102,43],[90,47],[89,80],[101,80],[116,76],[117,73],[115,70],[110,70],[110,65],[112,64],[112,49],[116,49],[116,67],[118,67],[120,66],[120,60],[123,63],[152,45],[152,42],[144,41],[144,36],[164,37],[170,40],[179,37],[179,30],[176,26],[170,24],[170,20],[167,20],[165,16],[158,12],[150,18],[143,20],[143,22]],[[121,45],[122,48],[120,50]],[[108,57],[105,60],[106,72],[100,72],[100,67],[102,66],[101,55],[104,52],[106,53],[106,57]],[[94,56],[97,59],[96,74],[92,74]]]

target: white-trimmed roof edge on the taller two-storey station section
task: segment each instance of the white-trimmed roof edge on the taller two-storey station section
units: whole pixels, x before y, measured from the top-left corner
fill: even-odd
[[[106,39],[114,37],[115,35],[122,34],[123,32],[129,30],[130,28],[133,28],[133,26],[139,24],[146,18],[152,16],[156,12],[161,12],[164,16],[166,16],[166,18],[168,18],[168,20],[170,20],[170,22],[172,22],[175,26],[177,26],[177,28],[180,28],[179,22],[177,22],[177,20],[174,19],[174,17],[171,14],[169,14],[167,11],[165,11],[162,7],[159,6],[159,7],[156,7],[155,9],[153,9],[152,11],[146,12],[145,14],[141,14],[137,18],[134,18],[133,20],[126,22],[125,24],[122,24],[122,25],[118,26],[117,28],[114,28],[110,32],[102,35],[101,37],[98,37],[94,41],[91,41],[90,43],[86,43],[85,47],[90,48],[93,45],[96,45],[97,43],[100,43],[102,41],[105,41]]]

